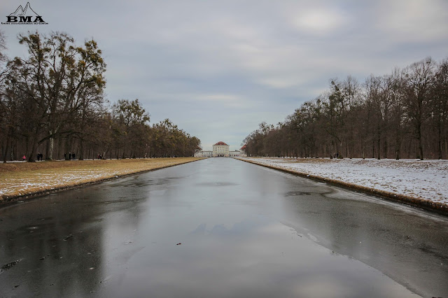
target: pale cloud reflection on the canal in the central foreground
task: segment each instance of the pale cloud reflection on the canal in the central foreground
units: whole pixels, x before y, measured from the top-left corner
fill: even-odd
[[[165,235],[166,236],[166,235]],[[399,297],[411,295],[379,271],[297,236],[264,215],[234,225],[202,223],[180,236],[153,234],[106,297]],[[139,243],[141,244],[141,243]],[[178,243],[179,244],[179,243]],[[144,257],[143,257],[144,256]],[[116,286],[119,284],[120,286]]]

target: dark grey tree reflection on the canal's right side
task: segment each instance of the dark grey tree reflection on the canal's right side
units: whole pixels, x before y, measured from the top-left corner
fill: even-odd
[[[436,222],[374,201],[356,200],[357,194],[349,192],[328,197],[316,193],[325,189],[328,187],[316,185],[314,194],[283,199],[290,227],[315,236],[322,246],[377,268],[395,281],[406,276],[417,288],[440,289],[447,271],[433,270],[430,264],[440,264],[440,260],[448,259],[448,253],[444,249],[446,234],[429,232],[440,230]]]

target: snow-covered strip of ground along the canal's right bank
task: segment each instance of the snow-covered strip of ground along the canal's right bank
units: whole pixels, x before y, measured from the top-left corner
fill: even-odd
[[[253,158],[260,164],[448,204],[448,160]]]

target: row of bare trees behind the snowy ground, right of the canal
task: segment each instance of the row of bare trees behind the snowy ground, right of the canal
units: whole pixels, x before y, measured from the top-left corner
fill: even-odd
[[[431,58],[364,83],[352,76],[306,101],[284,122],[244,140],[248,155],[448,158],[448,59]]]

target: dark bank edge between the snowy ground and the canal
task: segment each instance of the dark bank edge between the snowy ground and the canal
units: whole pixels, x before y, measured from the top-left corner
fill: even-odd
[[[439,203],[439,202],[435,202],[435,201],[430,201],[428,199],[419,199],[416,197],[411,197],[405,194],[397,194],[394,192],[388,192],[385,190],[376,190],[372,187],[366,187],[363,185],[357,185],[354,183],[348,183],[348,182],[344,182],[341,180],[335,180],[332,178],[325,178],[322,176],[318,176],[318,175],[314,175],[314,174],[310,174],[310,173],[304,173],[301,171],[295,171],[295,170],[291,170],[291,169],[286,169],[283,168],[281,166],[273,166],[270,164],[262,164],[262,162],[256,162],[252,159],[241,159],[241,158],[236,158],[238,160],[241,160],[242,162],[248,162],[250,164],[256,164],[258,166],[265,166],[269,169],[274,169],[277,171],[283,171],[285,173],[291,173],[295,176],[300,176],[302,178],[309,178],[312,180],[316,180],[319,182],[325,182],[325,183],[330,183],[332,185],[337,185],[340,187],[344,187],[346,189],[349,190],[358,190],[360,192],[366,193],[366,194],[374,194],[376,196],[379,196],[383,199],[388,199],[389,201],[395,201],[398,203],[402,203],[402,204],[406,204],[409,206],[413,206],[413,207],[417,207],[417,208],[422,208],[426,211],[431,211],[434,213],[438,213],[441,215],[445,215],[448,216],[448,204],[443,204],[443,203]]]

